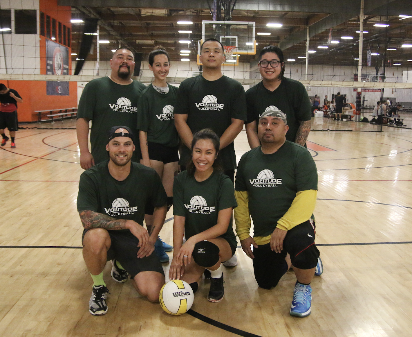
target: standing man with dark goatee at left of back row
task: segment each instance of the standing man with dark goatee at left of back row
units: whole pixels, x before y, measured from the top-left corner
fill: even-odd
[[[110,60],[110,68],[110,76],[96,78],[87,83],[80,97],[77,111],[77,141],[80,148],[80,166],[84,170],[108,159],[105,145],[106,130],[110,127],[126,125],[137,134],[137,104],[145,85],[131,79],[134,71],[133,53],[125,47],[116,49]],[[136,142],[132,161],[138,163],[139,160],[140,146]]]

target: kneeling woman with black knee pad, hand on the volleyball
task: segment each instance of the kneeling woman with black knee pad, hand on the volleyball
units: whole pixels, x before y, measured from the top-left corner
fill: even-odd
[[[236,250],[232,181],[219,169],[219,137],[211,129],[193,135],[192,161],[173,184],[173,261],[169,278],[182,279],[196,292],[202,273],[211,273],[210,302],[224,295],[222,262]],[[183,236],[186,242],[183,244]]]

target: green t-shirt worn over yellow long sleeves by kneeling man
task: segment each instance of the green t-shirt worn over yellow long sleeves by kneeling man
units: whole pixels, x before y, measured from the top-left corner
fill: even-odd
[[[268,236],[297,192],[318,189],[316,164],[306,148],[291,141],[272,154],[258,146],[240,159],[235,189],[248,191],[254,236]]]

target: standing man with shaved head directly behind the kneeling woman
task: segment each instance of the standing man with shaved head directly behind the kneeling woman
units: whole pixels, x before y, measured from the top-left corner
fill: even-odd
[[[193,134],[211,128],[220,137],[219,158],[225,174],[234,181],[236,155],[233,141],[246,120],[243,86],[222,74],[225,61],[222,43],[208,39],[201,45],[203,73],[184,80],[178,89],[174,117],[176,130],[183,141],[179,164],[191,159]]]

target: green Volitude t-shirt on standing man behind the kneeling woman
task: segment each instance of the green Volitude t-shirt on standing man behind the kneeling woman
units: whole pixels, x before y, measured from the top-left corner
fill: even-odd
[[[232,118],[246,120],[246,98],[243,86],[236,80],[222,76],[208,81],[202,75],[184,80],[179,87],[174,113],[188,115],[187,125],[195,132],[210,127],[221,137],[232,123]],[[219,152],[224,170],[236,168],[233,142]],[[182,146],[180,165],[187,165],[190,149]]]

